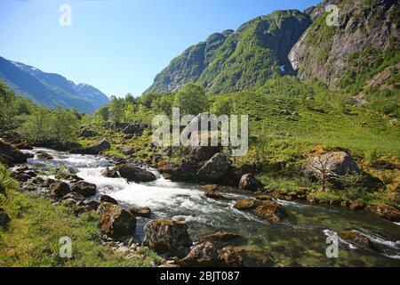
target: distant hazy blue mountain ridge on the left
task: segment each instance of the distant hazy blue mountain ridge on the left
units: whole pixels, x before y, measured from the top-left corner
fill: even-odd
[[[0,80],[16,94],[49,107],[76,108],[91,113],[109,102],[106,94],[91,85],[76,85],[59,74],[46,73],[3,57],[0,57]]]

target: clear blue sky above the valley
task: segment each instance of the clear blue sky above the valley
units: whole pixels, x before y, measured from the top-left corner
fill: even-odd
[[[189,45],[319,0],[0,0],[0,56],[108,95],[141,94]],[[60,27],[60,5],[72,26]]]

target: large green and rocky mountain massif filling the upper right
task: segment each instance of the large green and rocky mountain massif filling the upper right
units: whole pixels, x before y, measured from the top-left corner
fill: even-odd
[[[326,24],[329,4],[340,9],[339,27]],[[398,0],[325,0],[304,12],[273,12],[189,47],[145,94],[173,92],[187,82],[210,94],[252,90],[287,74],[361,92],[384,69],[398,70],[399,18]]]

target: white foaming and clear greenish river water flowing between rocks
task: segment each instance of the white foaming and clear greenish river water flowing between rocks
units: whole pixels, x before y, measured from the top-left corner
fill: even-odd
[[[158,179],[152,183],[127,183],[123,178],[100,175],[105,167],[113,167],[108,159],[43,150],[53,160],[29,159],[31,167],[49,169],[55,166],[72,168],[85,181],[95,183],[99,194],[107,194],[126,206],[148,206],[152,218],[184,218],[192,240],[204,234],[227,231],[245,238],[237,248],[268,252],[276,266],[400,266],[400,225],[369,212],[353,212],[347,208],[313,205],[302,202],[279,201],[288,217],[281,224],[260,220],[249,212],[234,208],[238,199],[254,193],[223,188],[227,199],[215,200],[204,196],[196,184],[173,183],[155,172]],[[142,227],[148,219],[140,219],[136,239],[143,238]],[[354,248],[340,240],[339,257],[326,256],[328,236],[337,232],[363,232],[379,248],[380,253]]]

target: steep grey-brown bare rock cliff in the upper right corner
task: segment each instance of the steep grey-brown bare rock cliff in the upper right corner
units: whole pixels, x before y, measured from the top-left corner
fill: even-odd
[[[339,27],[326,24],[327,4],[340,8]],[[289,53],[292,68],[300,79],[317,77],[337,87],[347,69],[354,68],[354,54],[366,49],[398,50],[398,4],[398,0],[324,1],[309,9],[314,21]]]

